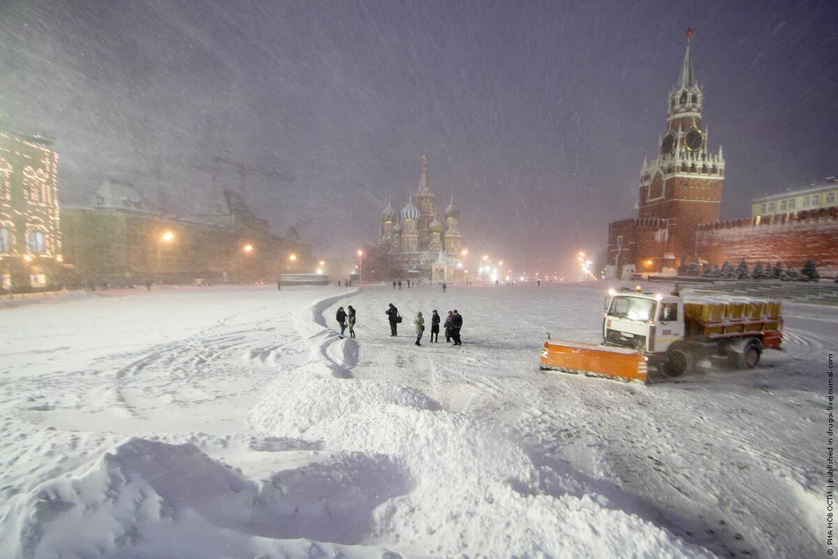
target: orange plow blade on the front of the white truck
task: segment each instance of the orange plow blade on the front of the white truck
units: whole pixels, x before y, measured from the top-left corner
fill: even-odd
[[[646,358],[634,349],[548,339],[541,349],[541,368],[567,373],[646,381]]]

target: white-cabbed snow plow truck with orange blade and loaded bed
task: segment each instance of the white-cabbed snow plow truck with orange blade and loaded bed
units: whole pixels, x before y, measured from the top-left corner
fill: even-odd
[[[680,298],[611,290],[603,309],[603,343],[547,340],[541,369],[645,382],[648,366],[680,376],[697,360],[727,357],[741,369],[779,349],[779,301]]]

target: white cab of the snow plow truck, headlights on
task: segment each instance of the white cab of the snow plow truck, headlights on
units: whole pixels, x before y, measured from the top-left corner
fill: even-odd
[[[606,345],[655,355],[684,339],[684,303],[675,296],[609,292],[603,313]]]

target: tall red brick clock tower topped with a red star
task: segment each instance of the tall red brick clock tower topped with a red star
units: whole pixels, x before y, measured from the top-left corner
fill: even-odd
[[[656,157],[640,170],[637,215],[608,225],[608,268],[627,273],[675,274],[698,259],[696,225],[719,219],[725,161],[711,153],[701,120],[704,91],[696,80],[692,30],[678,80],[667,100],[666,129]]]

